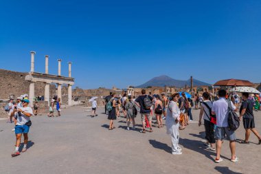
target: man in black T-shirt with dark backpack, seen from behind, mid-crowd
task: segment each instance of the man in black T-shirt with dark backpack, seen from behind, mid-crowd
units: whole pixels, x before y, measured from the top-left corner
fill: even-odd
[[[150,124],[149,132],[152,132],[152,116],[150,115],[150,107],[152,106],[153,98],[146,94],[146,90],[141,90],[141,96],[136,98],[135,103],[140,108],[139,113],[141,113],[142,131],[141,133],[146,133],[145,129],[145,118],[148,119]]]

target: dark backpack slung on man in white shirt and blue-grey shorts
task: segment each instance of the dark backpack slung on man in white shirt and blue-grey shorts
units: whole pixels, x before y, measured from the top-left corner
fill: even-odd
[[[231,101],[227,100],[227,102],[228,102],[227,111],[229,112],[227,118],[228,127],[230,131],[236,131],[236,129],[238,129],[238,127],[240,126],[240,120],[238,114],[236,114],[236,112],[231,109]]]

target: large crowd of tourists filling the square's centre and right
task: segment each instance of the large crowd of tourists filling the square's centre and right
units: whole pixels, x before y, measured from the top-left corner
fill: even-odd
[[[216,152],[216,163],[222,162],[220,149],[225,138],[229,140],[231,150],[231,162],[238,162],[236,156],[236,129],[243,122],[245,128],[245,140],[242,144],[249,144],[250,133],[253,132],[261,144],[261,136],[255,129],[253,111],[260,110],[260,95],[249,95],[242,93],[240,97],[236,93],[227,94],[227,91],[220,89],[217,95],[204,92],[202,95],[195,94],[193,98],[184,92],[175,93],[171,96],[166,94],[149,95],[146,90],[141,90],[141,96],[135,98],[131,94],[124,94],[117,97],[111,93],[105,98],[105,113],[108,114],[109,130],[115,129],[113,121],[120,117],[120,109],[126,118],[127,130],[135,130],[135,118],[139,110],[142,122],[141,133],[147,131],[152,133],[152,123],[157,124],[160,129],[163,127],[163,119],[166,119],[166,130],[172,141],[172,154],[181,155],[182,149],[179,146],[179,131],[185,129],[193,120],[191,109],[200,109],[198,126],[204,124],[205,146],[209,151]],[[238,110],[239,109],[239,110]],[[240,116],[236,115],[239,111]],[[157,122],[152,122],[155,116]],[[204,122],[202,122],[202,119]],[[130,127],[130,125],[133,127]]]

